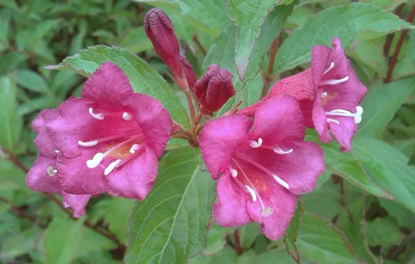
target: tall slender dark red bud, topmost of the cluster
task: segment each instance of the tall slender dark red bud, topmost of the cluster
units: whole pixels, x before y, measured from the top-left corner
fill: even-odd
[[[181,83],[184,76],[180,63],[179,42],[169,17],[163,10],[152,8],[144,19],[144,30],[157,54],[173,73],[176,83]]]

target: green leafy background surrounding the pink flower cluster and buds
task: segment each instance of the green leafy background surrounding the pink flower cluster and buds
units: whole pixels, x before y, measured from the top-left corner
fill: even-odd
[[[301,263],[413,263],[415,27],[405,19],[414,3],[277,2],[0,0],[0,262],[180,264],[201,252],[189,263],[295,263],[290,254]],[[279,241],[267,240],[256,223],[224,229],[210,219],[215,183],[198,150],[180,140],[169,142],[143,202],[101,195],[74,220],[54,201],[60,197],[26,187],[24,170],[38,154],[31,122],[79,96],[103,61],[122,67],[136,92],[159,99],[189,127],[185,95],[143,31],[152,6],[171,18],[198,77],[211,63],[233,72],[237,94],[218,115],[241,100],[242,107],[253,104],[264,86],[309,67],[311,46],[329,45],[336,35],[368,87],[353,151],[321,145],[327,172],[299,201]],[[306,140],[318,136],[307,131]]]

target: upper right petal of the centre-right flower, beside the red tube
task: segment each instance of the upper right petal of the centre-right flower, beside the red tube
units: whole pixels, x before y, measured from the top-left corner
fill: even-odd
[[[266,101],[255,113],[250,138],[262,138],[265,145],[304,139],[304,121],[297,100],[280,94]]]

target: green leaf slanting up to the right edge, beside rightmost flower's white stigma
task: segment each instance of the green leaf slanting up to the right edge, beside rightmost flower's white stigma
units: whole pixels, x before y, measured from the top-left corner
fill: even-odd
[[[357,133],[380,138],[384,127],[412,94],[414,87],[415,78],[409,78],[370,88],[361,102],[364,113]]]

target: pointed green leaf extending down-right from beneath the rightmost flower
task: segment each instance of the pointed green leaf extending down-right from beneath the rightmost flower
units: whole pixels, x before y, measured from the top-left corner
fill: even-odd
[[[318,135],[316,135],[315,131],[311,130],[307,131],[306,140],[319,142]],[[340,145],[337,142],[321,144],[320,147],[324,152],[326,170],[342,176],[347,181],[370,192],[372,195],[393,199],[391,194],[379,187],[368,173],[363,170],[363,165],[361,165],[359,159],[353,152],[340,152]]]

